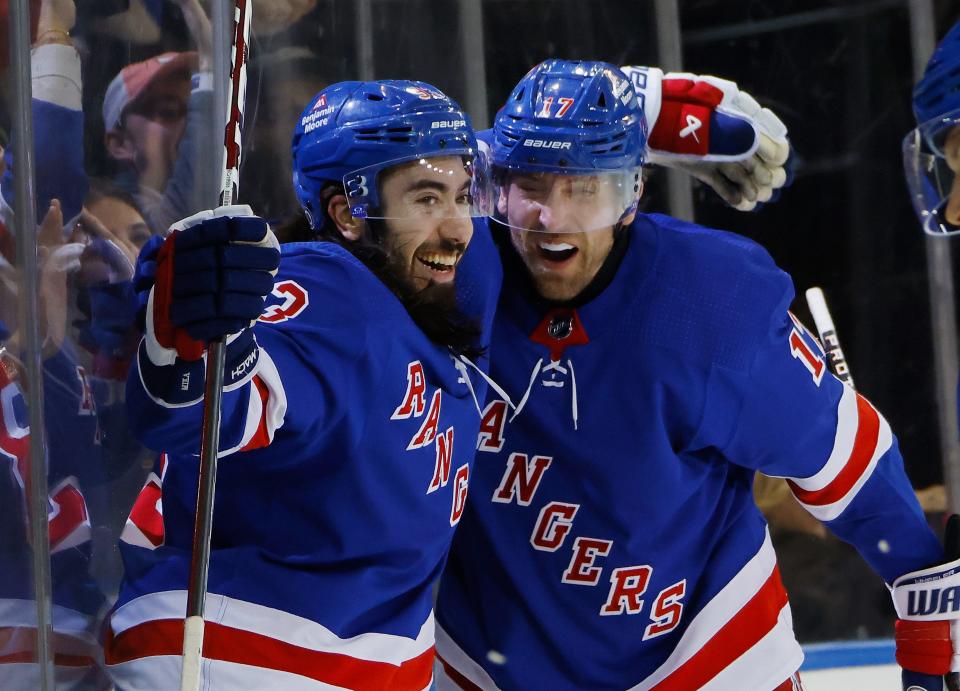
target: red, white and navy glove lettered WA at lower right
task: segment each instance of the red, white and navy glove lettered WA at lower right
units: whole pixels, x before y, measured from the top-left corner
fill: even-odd
[[[947,561],[905,574],[893,582],[891,594],[896,624],[897,663],[904,688],[940,691],[960,689],[960,516],[947,521],[944,533]],[[944,678],[946,675],[946,678]]]

